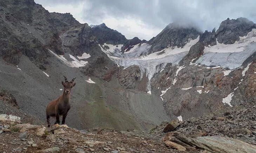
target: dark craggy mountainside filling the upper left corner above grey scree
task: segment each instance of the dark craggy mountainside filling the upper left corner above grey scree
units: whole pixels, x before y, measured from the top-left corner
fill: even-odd
[[[57,19],[58,18],[58,19]],[[2,1],[0,5],[0,55],[18,65],[22,54],[45,70],[47,48],[61,51],[61,31],[78,24],[70,14],[49,13],[33,0]]]

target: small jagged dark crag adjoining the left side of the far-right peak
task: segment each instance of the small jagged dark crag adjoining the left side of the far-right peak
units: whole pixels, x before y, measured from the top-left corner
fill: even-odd
[[[199,42],[201,42],[204,46],[214,46],[216,45],[216,37],[215,37],[215,28],[213,31],[205,31],[200,35]]]

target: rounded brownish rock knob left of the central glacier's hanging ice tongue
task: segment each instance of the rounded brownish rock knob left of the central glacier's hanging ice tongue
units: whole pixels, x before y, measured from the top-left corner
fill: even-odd
[[[140,68],[137,65],[132,65],[116,74],[116,78],[120,84],[127,88],[135,88],[136,83],[140,80]]]

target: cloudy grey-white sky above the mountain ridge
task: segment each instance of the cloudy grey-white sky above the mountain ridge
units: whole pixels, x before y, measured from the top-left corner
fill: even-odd
[[[80,23],[101,24],[126,38],[149,40],[169,23],[204,30],[221,21],[247,17],[256,21],[254,0],[35,0],[49,12],[71,13]]]

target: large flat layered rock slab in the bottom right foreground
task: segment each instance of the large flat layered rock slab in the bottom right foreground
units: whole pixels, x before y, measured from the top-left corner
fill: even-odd
[[[195,151],[196,148],[200,148],[204,151],[212,153],[220,152],[248,152],[254,153],[256,151],[255,145],[250,145],[238,139],[222,136],[206,136],[188,138],[180,133],[170,133],[169,140],[165,141],[167,146],[175,148],[180,151]],[[168,138],[164,138],[165,140]]]

